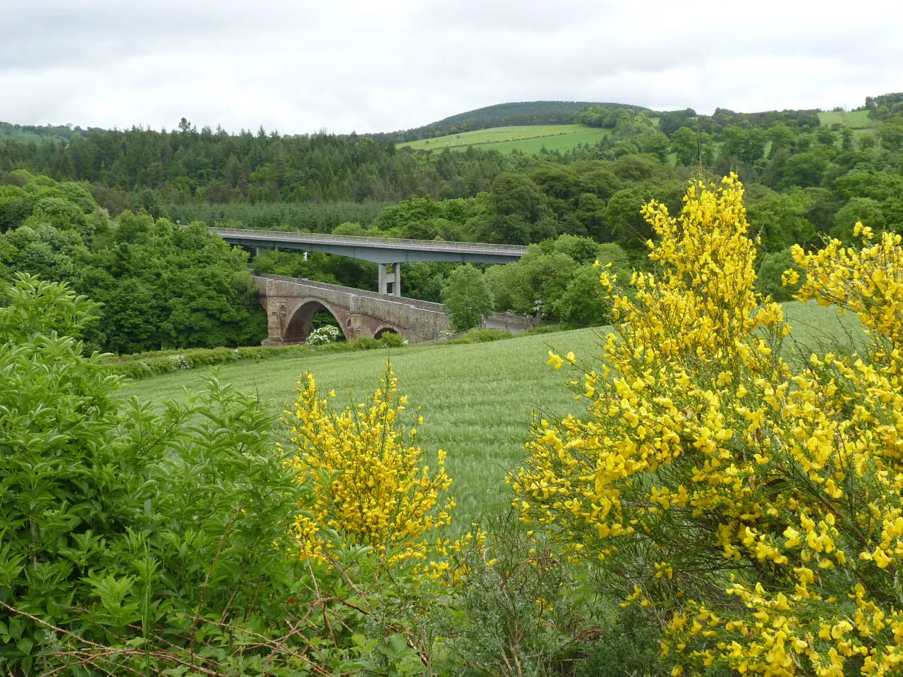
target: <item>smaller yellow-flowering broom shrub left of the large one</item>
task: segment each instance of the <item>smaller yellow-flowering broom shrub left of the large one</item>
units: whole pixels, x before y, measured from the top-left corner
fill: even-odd
[[[312,502],[300,504],[291,526],[296,552],[328,561],[340,545],[366,545],[388,563],[423,565],[431,551],[426,534],[451,522],[454,500],[447,496],[442,505],[440,495],[452,479],[445,452],[436,453],[431,470],[414,443],[417,428],[402,428],[407,398],[398,393],[391,366],[369,403],[343,411],[331,408],[335,393],[322,396],[310,373],[301,376],[297,390],[294,411],[286,412],[297,454],[287,466],[314,489]],[[447,567],[428,565],[434,572]]]

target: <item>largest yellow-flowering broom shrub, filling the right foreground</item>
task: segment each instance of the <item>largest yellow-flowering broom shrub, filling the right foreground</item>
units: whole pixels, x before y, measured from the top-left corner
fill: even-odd
[[[659,618],[673,675],[899,674],[900,237],[795,248],[798,298],[856,312],[871,338],[865,358],[796,366],[780,306],[754,291],[734,176],[692,184],[677,218],[644,215],[660,272],[633,276],[634,300],[601,274],[619,333],[573,381],[585,420],[535,421],[508,478],[522,521]]]

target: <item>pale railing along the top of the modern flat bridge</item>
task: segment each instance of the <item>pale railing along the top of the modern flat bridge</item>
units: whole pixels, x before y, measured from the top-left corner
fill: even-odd
[[[421,249],[437,252],[473,252],[522,256],[526,246],[493,245],[488,242],[445,242],[437,240],[411,240],[399,237],[366,237],[323,235],[321,233],[295,233],[284,230],[252,230],[250,228],[210,227],[210,232],[223,239],[262,239],[283,242],[321,243],[324,245],[374,246],[386,249]]]

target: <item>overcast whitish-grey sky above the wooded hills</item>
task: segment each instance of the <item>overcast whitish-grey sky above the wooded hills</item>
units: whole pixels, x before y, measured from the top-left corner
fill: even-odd
[[[508,101],[847,108],[903,91],[903,3],[0,0],[0,120],[388,132]]]

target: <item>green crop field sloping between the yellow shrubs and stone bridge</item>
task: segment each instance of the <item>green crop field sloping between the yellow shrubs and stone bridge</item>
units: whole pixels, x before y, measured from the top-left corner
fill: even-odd
[[[804,347],[851,350],[860,335],[855,318],[838,318],[814,303],[787,303],[788,322]],[[598,365],[597,337],[607,329],[579,329],[511,338],[494,343],[412,346],[397,350],[274,357],[256,363],[221,368],[219,378],[247,393],[257,393],[273,413],[293,401],[298,375],[310,370],[326,391],[334,389],[339,403],[349,402],[349,389],[358,402],[372,394],[386,359],[391,359],[401,392],[424,416],[418,439],[431,452],[443,449],[454,480],[458,503],[455,524],[466,528],[484,510],[507,503],[504,478],[523,458],[523,444],[531,413],[579,413],[567,382],[566,368],[546,365],[549,349],[569,350],[578,364]],[[805,348],[804,348],[805,349]],[[807,355],[808,353],[806,353]],[[128,385],[126,394],[145,402],[181,399],[182,386],[198,388],[209,372],[154,376]],[[284,427],[277,426],[284,441]],[[434,458],[434,456],[432,456]]]

